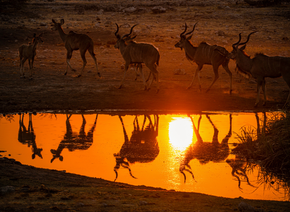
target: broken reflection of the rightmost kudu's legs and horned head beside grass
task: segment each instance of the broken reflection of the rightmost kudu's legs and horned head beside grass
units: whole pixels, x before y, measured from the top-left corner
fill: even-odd
[[[257,133],[260,134],[261,133],[261,126],[260,126],[260,118],[258,116],[258,113],[255,113],[255,117],[257,120]],[[262,125],[263,132],[265,129],[264,126],[266,125],[266,120],[267,120],[266,112],[263,112],[263,119],[261,120],[263,122],[263,125]],[[240,189],[242,189],[240,176],[244,177],[244,179],[247,181],[248,185],[255,187],[250,183],[249,178],[247,176],[246,168],[247,168],[248,163],[244,159],[241,159],[241,158],[236,156],[235,159],[226,160],[226,163],[229,164],[229,166],[231,166],[231,168],[232,168],[231,174],[233,177],[235,177],[238,180],[238,182],[239,182],[238,187]]]

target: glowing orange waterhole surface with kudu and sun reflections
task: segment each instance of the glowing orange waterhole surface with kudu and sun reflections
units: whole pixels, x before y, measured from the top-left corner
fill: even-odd
[[[133,185],[222,197],[288,200],[279,182],[230,154],[258,113],[22,114],[0,117],[0,152],[22,164]],[[261,121],[260,121],[261,122]],[[8,156],[11,154],[11,156]],[[289,188],[286,188],[286,190]],[[286,192],[287,193],[287,192]],[[287,194],[286,194],[287,196]]]

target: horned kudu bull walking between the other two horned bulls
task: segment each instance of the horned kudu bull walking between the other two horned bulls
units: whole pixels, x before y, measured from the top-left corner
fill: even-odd
[[[195,25],[197,22],[195,23]],[[185,56],[186,59],[189,60],[191,63],[195,62],[197,64],[197,69],[193,75],[193,80],[189,87],[187,89],[190,89],[193,86],[193,81],[197,77],[198,80],[198,86],[199,89],[201,90],[201,85],[200,85],[200,70],[202,69],[204,64],[212,65],[213,67],[213,73],[214,73],[214,78],[213,81],[211,82],[211,85],[206,89],[206,92],[208,92],[215,81],[218,79],[218,68],[220,65],[226,70],[230,77],[230,94],[232,93],[232,73],[229,69],[229,59],[226,58],[226,56],[222,55],[219,53],[219,51],[215,51],[216,49],[220,49],[221,52],[228,52],[226,49],[222,46],[217,46],[217,45],[209,45],[206,42],[201,42],[197,47],[193,46],[193,44],[190,42],[190,39],[192,35],[186,38],[186,35],[189,35],[193,33],[195,25],[193,26],[193,30],[191,30],[188,33],[186,32],[187,26],[185,23],[185,29],[182,33],[180,33],[180,41],[175,44],[175,48],[181,48],[181,50],[184,48],[185,51]],[[185,34],[184,34],[185,33]]]

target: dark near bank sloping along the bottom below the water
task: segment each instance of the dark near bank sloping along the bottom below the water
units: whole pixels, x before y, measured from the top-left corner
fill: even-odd
[[[35,168],[7,157],[0,158],[0,170],[0,211],[240,211],[241,202],[254,207],[247,211],[290,208],[289,201],[231,199],[133,186]]]

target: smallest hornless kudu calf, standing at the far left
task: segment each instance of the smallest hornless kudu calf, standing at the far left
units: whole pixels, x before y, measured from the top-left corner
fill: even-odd
[[[24,62],[28,59],[29,64],[29,79],[32,80],[32,69],[33,69],[33,62],[34,58],[36,56],[36,48],[38,43],[43,43],[43,40],[41,39],[43,33],[36,36],[36,33],[33,33],[33,44],[22,44],[19,47],[19,58],[20,58],[20,78],[25,79],[25,72],[24,72]],[[23,70],[23,73],[22,73]]]

